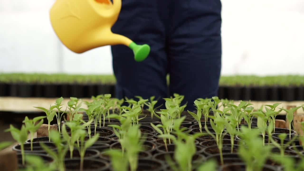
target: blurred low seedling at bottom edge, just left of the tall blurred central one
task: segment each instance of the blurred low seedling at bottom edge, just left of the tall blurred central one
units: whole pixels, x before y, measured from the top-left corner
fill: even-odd
[[[127,171],[128,160],[124,157],[122,150],[111,149],[105,151],[105,155],[110,156],[113,171]]]

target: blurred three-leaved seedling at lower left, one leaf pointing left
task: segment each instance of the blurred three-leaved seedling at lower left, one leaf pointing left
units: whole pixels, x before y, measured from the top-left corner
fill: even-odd
[[[50,131],[50,138],[54,142],[55,146],[57,147],[57,150],[54,151],[51,148],[49,148],[47,145],[45,145],[43,142],[40,142],[40,146],[47,152],[48,155],[53,157],[54,164],[57,166],[57,169],[59,171],[65,171],[65,165],[64,165],[64,157],[67,154],[68,146],[63,145],[63,139],[60,137],[60,133],[55,130]]]

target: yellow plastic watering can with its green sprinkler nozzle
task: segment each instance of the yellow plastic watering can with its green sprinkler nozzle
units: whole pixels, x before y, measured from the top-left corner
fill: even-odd
[[[137,45],[111,31],[120,9],[121,0],[57,0],[50,9],[50,20],[61,42],[75,53],[123,44],[133,50],[136,61],[143,61],[150,53],[149,45]]]

